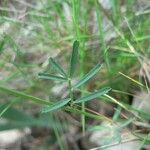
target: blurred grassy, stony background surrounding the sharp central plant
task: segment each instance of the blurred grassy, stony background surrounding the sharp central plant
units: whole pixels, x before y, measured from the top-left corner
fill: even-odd
[[[81,114],[42,114],[42,105],[10,91],[50,101],[67,97],[66,84],[38,73],[54,73],[49,57],[67,70],[75,40],[74,80],[100,62],[101,71],[83,88],[112,88],[110,97],[86,103],[91,117],[84,135]],[[0,0],[0,149],[149,150],[149,43],[149,0]]]

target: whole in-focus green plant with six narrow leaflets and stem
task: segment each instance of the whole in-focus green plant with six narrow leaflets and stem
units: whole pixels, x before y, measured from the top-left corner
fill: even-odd
[[[50,64],[55,68],[55,70],[60,74],[58,75],[51,75],[48,73],[39,73],[39,78],[40,79],[46,79],[46,80],[57,80],[60,82],[67,82],[68,83],[68,90],[69,90],[69,98],[57,101],[53,103],[50,106],[46,106],[43,108],[42,112],[47,113],[50,111],[57,110],[67,104],[69,104],[71,107],[73,107],[74,104],[82,103],[82,102],[87,102],[90,100],[93,100],[99,96],[102,96],[106,93],[108,93],[111,88],[105,87],[102,89],[99,89],[97,91],[94,91],[86,96],[80,97],[78,99],[75,99],[74,97],[74,91],[78,88],[80,88],[83,84],[85,84],[89,79],[91,79],[102,67],[99,63],[91,69],[86,75],[84,75],[79,81],[75,84],[72,83],[73,75],[76,71],[77,67],[77,62],[78,62],[78,52],[79,52],[79,42],[75,41],[73,43],[73,50],[72,50],[72,55],[70,59],[70,66],[69,66],[69,71],[66,73],[64,69],[53,59],[50,58]]]

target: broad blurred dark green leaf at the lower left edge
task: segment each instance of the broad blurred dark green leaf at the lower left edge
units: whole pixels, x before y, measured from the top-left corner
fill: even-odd
[[[0,111],[3,110],[7,104],[0,105]],[[25,127],[50,127],[57,125],[59,128],[64,126],[64,124],[54,121],[51,116],[47,114],[42,114],[38,117],[33,117],[26,114],[24,111],[20,111],[16,108],[10,107],[4,114],[3,118],[7,122],[0,122],[0,131],[10,130],[10,129],[20,129]],[[47,122],[51,122],[48,124]]]

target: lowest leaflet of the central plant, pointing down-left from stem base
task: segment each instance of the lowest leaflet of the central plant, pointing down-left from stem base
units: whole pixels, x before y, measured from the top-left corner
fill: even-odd
[[[45,108],[43,108],[42,110],[42,113],[47,113],[47,112],[50,112],[50,111],[54,111],[54,110],[57,110],[63,106],[65,106],[71,99],[64,99],[64,100],[61,100],[61,101],[58,101],[50,106],[47,106]]]

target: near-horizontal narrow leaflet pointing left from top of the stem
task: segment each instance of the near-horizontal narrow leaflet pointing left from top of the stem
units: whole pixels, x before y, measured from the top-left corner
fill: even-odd
[[[39,73],[39,78],[40,79],[46,79],[46,80],[67,81],[67,78],[50,75],[48,73]]]

